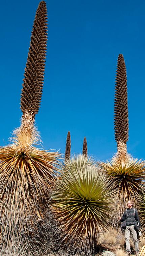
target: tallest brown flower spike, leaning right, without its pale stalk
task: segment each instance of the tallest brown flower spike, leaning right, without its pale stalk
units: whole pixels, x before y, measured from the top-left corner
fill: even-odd
[[[38,5],[33,30],[31,34],[30,48],[25,68],[24,83],[21,94],[21,110],[23,114],[38,113],[46,59],[47,43],[47,7],[45,1]]]

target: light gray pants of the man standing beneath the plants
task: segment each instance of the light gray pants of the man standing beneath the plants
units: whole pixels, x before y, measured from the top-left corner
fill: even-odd
[[[134,225],[127,226],[125,229],[125,243],[126,243],[126,252],[131,252],[131,247],[129,243],[129,237],[130,234],[133,236],[134,245],[135,245],[135,253],[139,253],[139,244],[138,244],[138,238],[137,238],[137,232],[134,229]]]

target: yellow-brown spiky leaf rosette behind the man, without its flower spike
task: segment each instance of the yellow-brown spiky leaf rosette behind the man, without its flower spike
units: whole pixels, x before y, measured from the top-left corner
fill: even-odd
[[[112,221],[114,226],[118,226],[118,217],[127,208],[127,201],[132,200],[138,205],[145,192],[145,161],[127,155],[124,160],[114,157],[110,162],[100,165],[106,170],[109,180],[112,180],[112,191],[118,191]]]

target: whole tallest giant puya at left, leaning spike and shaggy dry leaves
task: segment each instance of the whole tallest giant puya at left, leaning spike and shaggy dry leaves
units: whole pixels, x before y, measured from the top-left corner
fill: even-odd
[[[0,254],[33,255],[31,238],[45,216],[55,181],[58,153],[39,150],[34,126],[42,95],[47,43],[47,8],[41,1],[33,24],[21,95],[22,122],[12,144],[0,148]]]

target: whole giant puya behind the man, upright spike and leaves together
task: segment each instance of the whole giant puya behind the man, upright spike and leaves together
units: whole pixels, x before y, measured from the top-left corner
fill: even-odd
[[[118,56],[115,104],[114,104],[114,130],[117,142],[117,154],[107,163],[101,163],[106,169],[109,179],[115,180],[114,188],[118,189],[115,204],[113,224],[118,224],[118,216],[127,207],[129,199],[138,201],[144,192],[145,162],[131,157],[127,153],[128,140],[128,104],[127,104],[127,78],[126,66],[122,54]],[[113,187],[112,187],[113,188]]]

